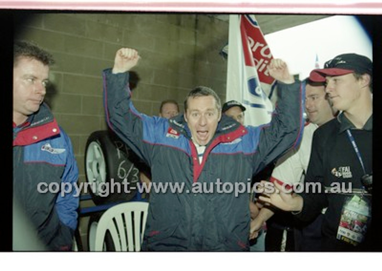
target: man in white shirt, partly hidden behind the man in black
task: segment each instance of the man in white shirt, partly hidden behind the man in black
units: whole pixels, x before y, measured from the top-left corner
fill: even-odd
[[[292,187],[304,181],[314,131],[337,115],[337,109],[332,107],[325,93],[325,82],[314,82],[311,78],[306,78],[304,82],[307,119],[301,144],[277,160],[269,179]],[[301,223],[290,212],[264,206],[251,221],[250,237],[256,235],[261,225],[267,222],[265,251],[320,251],[322,218],[323,215],[319,215],[313,223]]]

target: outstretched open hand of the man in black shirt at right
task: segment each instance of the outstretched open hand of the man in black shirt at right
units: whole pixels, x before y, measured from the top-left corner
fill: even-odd
[[[265,183],[263,183],[263,185],[265,186]],[[274,205],[284,211],[301,211],[303,209],[304,200],[300,195],[285,192],[285,188],[277,182],[274,182],[274,185],[275,192],[272,194],[264,192],[259,197],[259,200]]]

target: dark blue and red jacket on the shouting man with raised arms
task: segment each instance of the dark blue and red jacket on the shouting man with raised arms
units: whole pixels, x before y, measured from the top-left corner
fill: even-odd
[[[244,127],[223,115],[199,163],[183,115],[167,120],[141,114],[130,100],[128,73],[106,69],[103,76],[108,125],[151,167],[153,184],[184,184],[178,193],[151,190],[142,250],[248,250],[249,193],[219,193],[217,183],[227,192],[246,185],[298,144],[304,123],[300,83],[279,85],[268,125]],[[209,192],[196,192],[196,184]]]

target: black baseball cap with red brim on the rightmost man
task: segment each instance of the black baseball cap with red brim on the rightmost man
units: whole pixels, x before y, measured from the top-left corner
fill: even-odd
[[[338,55],[332,60],[326,61],[323,69],[314,69],[309,79],[314,82],[324,82],[325,76],[340,76],[349,73],[373,75],[372,61],[363,55],[347,53]]]

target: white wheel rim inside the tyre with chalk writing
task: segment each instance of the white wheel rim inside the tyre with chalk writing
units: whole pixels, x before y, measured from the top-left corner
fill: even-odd
[[[86,150],[86,177],[93,194],[99,195],[100,184],[106,181],[106,162],[101,146],[93,141]]]

